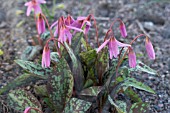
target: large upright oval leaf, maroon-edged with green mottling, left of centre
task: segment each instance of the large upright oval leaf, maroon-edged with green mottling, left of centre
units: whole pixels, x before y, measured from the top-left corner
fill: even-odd
[[[73,90],[73,75],[64,58],[57,62],[57,67],[48,77],[47,91],[55,113],[61,113],[69,101]]]

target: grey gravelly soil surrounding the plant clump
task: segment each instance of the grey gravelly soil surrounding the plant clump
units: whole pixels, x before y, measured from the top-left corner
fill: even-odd
[[[143,54],[138,59],[157,70],[159,76],[146,73],[136,73],[133,76],[153,88],[156,94],[139,90],[137,92],[144,102],[151,103],[151,113],[170,113],[170,2],[168,0],[64,0],[57,1],[56,6],[61,3],[64,4],[64,8],[57,8],[56,20],[59,16],[67,14],[76,18],[79,15],[87,16],[93,13],[100,28],[100,42],[103,42],[111,21],[116,18],[121,18],[126,24],[127,42],[141,33],[150,36],[156,52],[154,61],[148,59],[142,38],[137,40],[134,48],[136,53]],[[31,38],[36,37],[34,19],[25,15],[26,7],[23,4],[24,2],[19,0],[0,0],[0,45],[2,45],[0,49],[4,51],[0,56],[0,88],[23,73],[14,60],[21,57],[25,47],[32,45]],[[48,0],[47,5],[50,10],[51,4],[52,1]],[[113,29],[116,27],[117,25]],[[94,28],[90,29],[89,38],[92,42],[94,42],[94,31]],[[119,32],[115,32],[115,36],[122,40],[119,38]]]

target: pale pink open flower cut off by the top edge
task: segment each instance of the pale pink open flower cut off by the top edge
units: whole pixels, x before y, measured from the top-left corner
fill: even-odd
[[[25,6],[28,6],[27,8],[27,16],[30,15],[31,10],[34,9],[35,14],[41,13],[41,7],[40,4],[45,4],[45,0],[31,0],[30,2],[26,2]]]

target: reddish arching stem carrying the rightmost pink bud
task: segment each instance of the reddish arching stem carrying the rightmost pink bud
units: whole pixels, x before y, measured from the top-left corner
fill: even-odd
[[[146,37],[147,37],[147,35],[145,35],[145,34],[140,34],[140,35],[136,36],[136,37],[130,42],[130,45],[132,45],[132,44],[136,41],[136,39],[138,39],[138,38],[141,37],[141,36],[146,36]],[[122,51],[121,51],[121,53],[122,53]],[[121,54],[121,53],[120,53],[120,54]],[[120,65],[121,65],[121,63],[123,62],[124,58],[126,57],[126,54],[127,54],[127,53],[128,53],[128,49],[125,51],[123,57],[118,60],[118,64],[117,64],[117,66],[116,66],[116,77],[118,76],[118,68],[120,67]],[[119,57],[121,57],[121,55],[120,55]]]

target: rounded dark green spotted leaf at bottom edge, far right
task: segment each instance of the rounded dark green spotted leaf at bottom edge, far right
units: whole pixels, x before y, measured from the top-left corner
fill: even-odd
[[[129,113],[149,113],[149,104],[143,102],[134,103]]]

